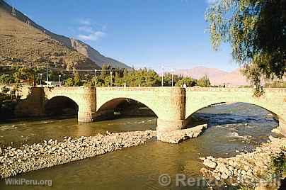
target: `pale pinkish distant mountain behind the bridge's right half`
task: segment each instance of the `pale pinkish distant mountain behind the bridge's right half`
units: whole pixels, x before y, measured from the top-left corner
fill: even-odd
[[[207,75],[212,85],[249,85],[246,77],[241,74],[240,69],[235,69],[232,72],[225,72],[215,68],[194,67],[193,69],[176,70],[175,74],[182,74],[185,77],[193,77],[194,79],[200,79],[201,77]]]

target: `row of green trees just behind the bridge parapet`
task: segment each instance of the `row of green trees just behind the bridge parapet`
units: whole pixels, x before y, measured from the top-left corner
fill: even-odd
[[[110,66],[103,65],[102,70],[96,72],[95,77],[83,79],[84,76],[74,71],[74,77],[64,80],[64,86],[161,86],[161,77],[152,69],[111,69]],[[56,76],[57,74],[55,74]],[[210,86],[207,77],[200,79],[202,86]],[[197,85],[197,80],[190,77],[182,77],[173,74],[173,85],[182,86]],[[164,74],[164,86],[172,85],[172,74]]]

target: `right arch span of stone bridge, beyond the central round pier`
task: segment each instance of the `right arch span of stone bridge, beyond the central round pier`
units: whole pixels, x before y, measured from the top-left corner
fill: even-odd
[[[219,102],[243,102],[265,108],[278,117],[282,133],[286,134],[286,89],[264,89],[261,97],[253,96],[253,89],[244,88],[188,88],[186,89],[187,119],[195,111]]]

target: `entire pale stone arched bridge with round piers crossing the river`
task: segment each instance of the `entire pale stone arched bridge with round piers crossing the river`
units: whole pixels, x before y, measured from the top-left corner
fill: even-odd
[[[78,106],[78,121],[91,122],[113,115],[120,102],[133,99],[154,111],[157,130],[176,130],[184,128],[189,116],[201,108],[222,102],[244,102],[275,114],[280,130],[286,135],[286,89],[265,89],[265,94],[259,98],[252,95],[253,89],[248,88],[34,87],[21,110],[25,109],[28,115],[41,116],[49,101],[67,97]]]

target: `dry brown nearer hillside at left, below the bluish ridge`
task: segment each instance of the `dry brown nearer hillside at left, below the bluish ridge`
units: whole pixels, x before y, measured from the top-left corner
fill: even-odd
[[[68,70],[98,68],[79,52],[19,21],[7,11],[4,1],[0,1],[0,64],[44,67],[46,62]]]

